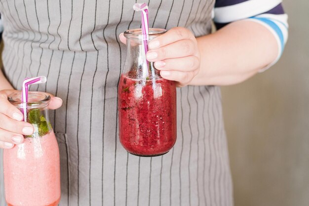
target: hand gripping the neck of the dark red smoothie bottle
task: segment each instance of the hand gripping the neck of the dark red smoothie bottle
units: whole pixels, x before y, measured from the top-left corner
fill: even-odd
[[[123,35],[120,40],[125,42]],[[148,44],[147,60],[154,62],[162,78],[176,81],[178,86],[189,84],[200,68],[200,54],[192,32],[176,27]]]

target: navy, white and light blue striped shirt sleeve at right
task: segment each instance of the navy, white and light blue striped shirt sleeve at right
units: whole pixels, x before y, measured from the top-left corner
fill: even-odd
[[[274,62],[262,69],[267,70],[282,55],[288,39],[288,16],[285,14],[282,0],[216,0],[214,22],[217,29],[238,21],[254,21],[270,30],[278,45],[278,56]]]

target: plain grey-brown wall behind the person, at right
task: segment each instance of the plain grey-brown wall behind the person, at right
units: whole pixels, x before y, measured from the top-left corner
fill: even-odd
[[[222,87],[235,206],[309,206],[309,1],[283,4],[281,60]]]

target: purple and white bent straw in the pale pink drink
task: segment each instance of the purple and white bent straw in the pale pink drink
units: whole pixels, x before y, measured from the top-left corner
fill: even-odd
[[[25,122],[27,122],[27,102],[28,102],[29,85],[37,83],[45,83],[46,80],[47,80],[46,77],[43,76],[24,79],[21,91],[21,101],[24,103],[22,113],[24,114]]]

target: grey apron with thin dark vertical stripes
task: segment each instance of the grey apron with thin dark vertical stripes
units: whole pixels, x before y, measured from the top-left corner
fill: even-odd
[[[135,2],[0,0],[7,79],[20,89],[25,77],[44,75],[46,85],[31,89],[63,99],[50,114],[61,153],[59,205],[232,206],[219,87],[177,90],[178,139],[166,155],[139,158],[119,143],[116,95],[125,46],[118,35],[140,27]],[[152,27],[187,27],[196,36],[211,31],[214,0],[147,3]]]

